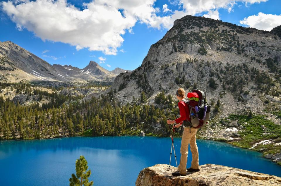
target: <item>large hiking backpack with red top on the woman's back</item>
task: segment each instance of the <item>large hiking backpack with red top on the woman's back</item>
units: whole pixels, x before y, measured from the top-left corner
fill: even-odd
[[[206,125],[210,119],[211,106],[206,105],[205,92],[193,90],[187,94],[188,101],[185,103],[189,106],[189,120],[184,120],[184,127],[201,128]]]

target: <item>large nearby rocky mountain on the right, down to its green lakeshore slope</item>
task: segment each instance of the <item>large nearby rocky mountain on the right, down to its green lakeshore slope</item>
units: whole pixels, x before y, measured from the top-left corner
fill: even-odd
[[[168,108],[169,94],[177,106],[179,87],[203,90],[211,119],[198,137],[265,152],[280,140],[274,134],[281,123],[280,64],[281,38],[272,32],[187,15],[151,45],[140,67],[118,75],[109,91],[122,104]]]

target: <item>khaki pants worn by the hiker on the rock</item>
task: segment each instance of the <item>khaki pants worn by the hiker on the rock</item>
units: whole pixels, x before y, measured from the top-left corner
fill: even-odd
[[[192,153],[191,168],[199,169],[199,156],[198,147],[196,144],[196,132],[195,128],[184,128],[184,132],[181,138],[181,161],[179,163],[180,174],[186,174],[186,163],[188,154],[188,145],[190,144],[190,150]]]

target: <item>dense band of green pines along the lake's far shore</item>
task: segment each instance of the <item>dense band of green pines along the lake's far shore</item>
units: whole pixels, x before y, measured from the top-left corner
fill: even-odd
[[[114,92],[109,91],[86,101],[54,96],[47,106],[40,107],[22,106],[0,97],[0,139],[130,135],[138,129],[153,131],[156,123],[162,125],[163,133],[168,132],[165,120],[176,118],[177,104],[173,106],[171,97],[163,93],[156,97],[157,103],[166,104],[160,108],[143,104],[145,95],[141,98],[142,101],[121,105],[115,101]]]

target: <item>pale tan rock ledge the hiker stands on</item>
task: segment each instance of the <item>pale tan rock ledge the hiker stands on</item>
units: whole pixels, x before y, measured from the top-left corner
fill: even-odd
[[[140,171],[136,186],[145,185],[281,185],[281,178],[273,175],[251,172],[238,168],[214,164],[200,166],[200,172],[187,173],[186,176],[172,176],[176,167],[156,164]]]

